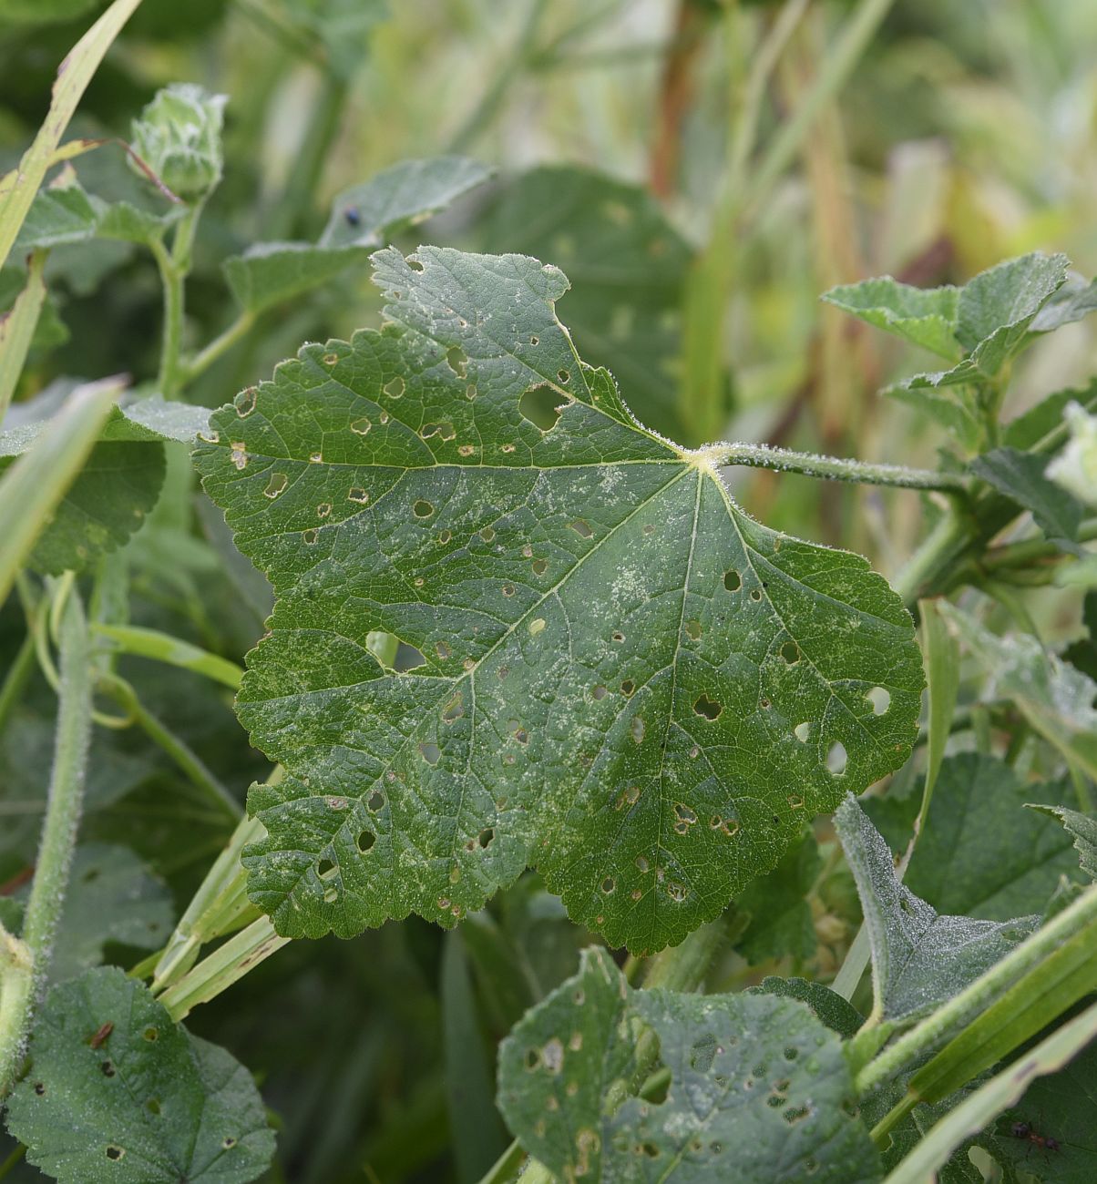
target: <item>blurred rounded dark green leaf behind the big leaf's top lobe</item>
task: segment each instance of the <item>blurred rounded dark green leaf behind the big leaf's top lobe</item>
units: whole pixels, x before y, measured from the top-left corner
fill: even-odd
[[[676,392],[692,251],[646,189],[575,166],[531,169],[503,188],[485,249],[563,268],[579,354],[614,373],[648,427],[689,442]]]

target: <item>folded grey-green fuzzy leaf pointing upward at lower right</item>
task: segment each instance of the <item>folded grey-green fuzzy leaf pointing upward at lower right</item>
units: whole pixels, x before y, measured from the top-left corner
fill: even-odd
[[[1034,916],[997,922],[938,914],[897,879],[887,844],[854,797],[839,806],[834,825],[861,897],[881,1019],[909,1024],[931,1011],[1034,927]]]

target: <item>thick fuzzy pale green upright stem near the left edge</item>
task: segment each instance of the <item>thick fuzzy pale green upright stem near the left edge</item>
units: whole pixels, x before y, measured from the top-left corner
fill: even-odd
[[[27,899],[23,939],[0,929],[0,1098],[18,1076],[36,998],[45,984],[53,933],[72,864],[91,740],[91,649],[83,606],[70,587],[60,617],[60,691],[53,772]]]

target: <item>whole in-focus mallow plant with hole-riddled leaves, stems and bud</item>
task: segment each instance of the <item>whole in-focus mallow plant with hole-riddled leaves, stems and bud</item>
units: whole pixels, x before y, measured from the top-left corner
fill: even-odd
[[[1097,384],[1002,408],[1014,361],[1097,287],[1033,253],[963,287],[826,294],[939,359],[884,392],[939,422],[936,469],[684,448],[584,359],[558,260],[387,245],[487,180],[450,156],[340,194],[316,242],[226,258],[236,317],[190,348],[224,98],[175,85],[136,116],[133,201],[72,166],[116,148],[62,142],[134,6],[76,47],[0,181],[5,742],[32,677],[56,703],[40,835],[34,813],[0,841],[26,868],[0,895],[0,1173],[264,1177],[255,1079],[184,1019],[290,942],[415,914],[468,934],[454,982],[507,1018],[494,1085],[468,1062],[513,1139],[485,1182],[1092,1179]],[[12,403],[47,260],[101,240],[155,260],[156,380]],[[370,269],[377,324],[217,410],[188,401],[268,309],[348,269]],[[907,490],[930,527],[888,584],[752,517],[743,466]],[[220,532],[198,558],[194,515]],[[243,670],[129,616],[148,571],[193,603],[218,567],[264,604]],[[1026,609],[1037,585],[1083,606],[1063,652]],[[269,762],[245,809],[134,657],[235,695]],[[81,824],[145,748],[231,830],[181,910]],[[550,982],[492,913],[527,869],[584,946]],[[802,967],[843,890],[860,929],[829,971],[736,972]]]

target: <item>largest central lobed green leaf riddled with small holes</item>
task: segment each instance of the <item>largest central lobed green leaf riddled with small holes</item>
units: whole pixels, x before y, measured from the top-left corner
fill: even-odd
[[[640,425],[557,268],[374,262],[384,329],[306,346],[195,453],[277,596],[237,701],[290,774],[251,792],[251,896],[293,935],[453,925],[533,862],[610,942],[680,941],[906,759],[910,616]]]

